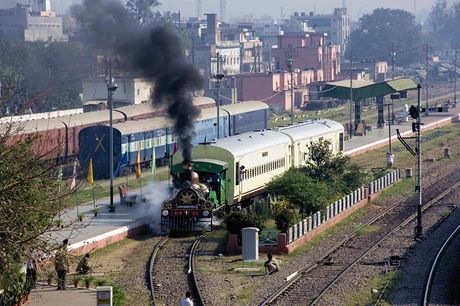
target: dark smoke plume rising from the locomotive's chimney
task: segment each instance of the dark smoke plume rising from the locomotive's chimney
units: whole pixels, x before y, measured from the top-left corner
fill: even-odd
[[[85,0],[72,7],[90,41],[120,57],[131,71],[155,81],[153,101],[165,106],[185,161],[191,161],[194,121],[200,111],[192,93],[202,78],[183,53],[170,26],[142,28],[115,0]]]

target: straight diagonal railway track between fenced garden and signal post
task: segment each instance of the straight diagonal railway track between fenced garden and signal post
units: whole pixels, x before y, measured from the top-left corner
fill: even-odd
[[[426,204],[423,210],[457,188],[460,184],[459,180],[458,169],[454,169],[426,186],[423,199]],[[445,186],[452,187],[446,190]],[[415,211],[416,203],[417,197],[413,195],[376,215],[320,255],[319,260],[304,266],[288,277],[288,280],[278,290],[259,305],[297,305],[299,301],[302,301],[303,304],[317,303],[347,271],[362,261],[392,233],[413,220],[416,215],[410,212]],[[359,235],[361,229],[371,225],[378,229],[377,233],[370,236]]]

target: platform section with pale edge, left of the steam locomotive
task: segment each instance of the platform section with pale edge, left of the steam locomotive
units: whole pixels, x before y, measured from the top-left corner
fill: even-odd
[[[169,197],[168,182],[154,182],[140,189],[130,190],[137,194],[138,201],[131,207],[120,205],[118,194],[114,197],[115,212],[109,212],[110,198],[102,198],[93,203],[79,205],[78,208],[67,210],[61,215],[64,228],[50,233],[56,243],[69,240],[69,252],[85,254],[107,244],[132,237],[149,226],[152,230],[160,229],[161,203]],[[93,209],[99,210],[94,216]],[[78,215],[84,214],[82,221]]]

